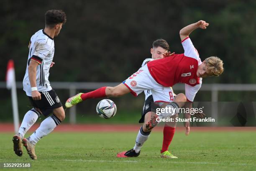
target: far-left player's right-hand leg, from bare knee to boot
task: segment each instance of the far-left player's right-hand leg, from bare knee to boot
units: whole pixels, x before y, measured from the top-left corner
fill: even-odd
[[[63,107],[58,107],[53,110],[53,115],[47,117],[41,124],[40,127],[28,138],[23,138],[22,143],[26,150],[28,151],[28,155],[36,160],[37,156],[35,153],[35,146],[38,141],[44,136],[51,133],[51,131],[56,128],[63,120],[65,119],[65,112]]]

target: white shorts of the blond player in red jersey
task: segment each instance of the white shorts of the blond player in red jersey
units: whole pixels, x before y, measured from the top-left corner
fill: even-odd
[[[123,84],[125,84],[134,96],[138,96],[144,90],[150,89],[154,102],[169,103],[174,100],[172,88],[163,87],[158,84],[149,73],[147,65],[141,67],[136,73],[126,79]]]

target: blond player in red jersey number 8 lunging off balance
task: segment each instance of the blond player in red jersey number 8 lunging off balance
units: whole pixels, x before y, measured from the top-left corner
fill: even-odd
[[[72,107],[91,98],[120,97],[128,93],[137,96],[144,90],[150,89],[154,102],[158,103],[161,108],[192,108],[195,94],[202,85],[202,78],[218,77],[224,70],[223,61],[216,56],[201,61],[197,49],[189,38],[192,31],[197,28],[206,29],[207,26],[209,26],[209,23],[200,20],[180,30],[179,35],[182,40],[184,54],[172,54],[163,59],[150,61],[116,87],[101,87],[92,92],[79,93],[70,97],[65,104],[66,107]],[[171,87],[177,83],[185,84],[185,94],[178,94],[174,99],[174,92]],[[157,118],[161,120],[173,117],[177,114],[176,111],[169,110],[169,112],[161,112],[160,115],[152,115],[151,121],[145,123],[144,126],[147,130],[151,130],[158,123]],[[190,115],[185,114],[185,117],[190,118]],[[188,135],[189,123],[186,123],[185,126],[187,128],[186,135]],[[135,150],[128,152],[137,153]]]

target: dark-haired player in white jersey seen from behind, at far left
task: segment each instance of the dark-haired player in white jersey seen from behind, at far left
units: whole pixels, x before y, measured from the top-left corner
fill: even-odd
[[[48,79],[49,69],[54,64],[54,37],[59,35],[66,20],[66,14],[62,10],[46,11],[45,28],[37,31],[30,39],[23,90],[33,108],[25,114],[18,133],[13,136],[13,150],[18,156],[23,154],[23,144],[28,155],[36,160],[35,145],[38,140],[51,133],[65,118],[59,97]],[[32,135],[24,138],[41,114],[47,118]]]

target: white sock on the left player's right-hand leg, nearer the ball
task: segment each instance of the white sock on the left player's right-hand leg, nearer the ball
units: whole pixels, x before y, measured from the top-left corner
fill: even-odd
[[[29,141],[33,144],[36,145],[36,143],[43,138],[44,136],[48,135],[51,133],[51,131],[54,130],[54,128],[61,123],[61,120],[59,120],[58,117],[55,115],[51,115],[47,117],[41,124],[40,127],[37,128],[37,130],[30,135]]]

